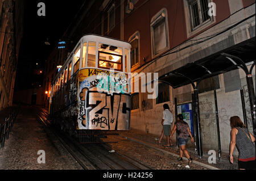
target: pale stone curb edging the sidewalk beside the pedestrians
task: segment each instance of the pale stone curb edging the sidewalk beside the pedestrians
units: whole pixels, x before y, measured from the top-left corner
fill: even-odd
[[[174,157],[177,157],[177,158],[180,157],[180,155],[178,155],[178,154],[171,153],[170,151],[166,151],[166,150],[157,148],[156,146],[153,146],[153,145],[149,144],[148,142],[144,142],[144,141],[141,141],[141,140],[137,140],[136,138],[131,138],[131,137],[127,137],[127,136],[122,136],[122,135],[119,135],[119,136],[124,137],[124,138],[126,138],[126,139],[128,139],[128,140],[137,142],[137,143],[139,143],[139,144],[148,146],[148,147],[153,148],[153,149],[155,149],[155,150],[162,151],[163,153],[171,154],[171,155],[174,156]],[[184,158],[184,159],[187,159],[187,158],[185,158],[185,157],[183,157],[183,158]],[[207,169],[210,169],[210,170],[221,170],[221,169],[219,169],[219,168],[217,168],[217,167],[210,166],[210,165],[207,165],[207,164],[205,164],[205,163],[196,161],[195,159],[193,160],[193,163],[195,163],[196,165],[200,165],[200,166],[206,167]]]

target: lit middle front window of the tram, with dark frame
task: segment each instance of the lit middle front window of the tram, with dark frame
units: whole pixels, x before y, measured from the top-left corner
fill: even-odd
[[[122,48],[106,44],[99,44],[98,67],[123,71]]]

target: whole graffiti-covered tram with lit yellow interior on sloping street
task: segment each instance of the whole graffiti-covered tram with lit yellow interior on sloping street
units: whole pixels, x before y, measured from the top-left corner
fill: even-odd
[[[55,126],[81,143],[101,142],[111,131],[129,131],[130,49],[129,43],[109,37],[80,39],[51,85]]]

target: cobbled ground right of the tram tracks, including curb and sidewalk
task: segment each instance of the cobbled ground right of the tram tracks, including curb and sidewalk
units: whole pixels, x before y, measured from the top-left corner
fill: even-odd
[[[119,132],[118,144],[112,144],[113,149],[125,151],[126,154],[132,155],[138,160],[151,165],[154,169],[187,169],[187,160],[177,162],[179,157],[179,149],[176,146],[164,148],[165,140],[161,144],[156,141],[157,136],[154,134],[144,133],[136,129],[130,129],[129,132]],[[189,150],[189,154],[194,159],[190,169],[221,169],[221,170],[237,170],[237,157],[234,158],[234,164],[229,163],[229,156],[222,153],[220,161],[216,164],[208,163],[209,155],[204,154],[199,158],[195,150]],[[181,165],[181,166],[180,166]]]

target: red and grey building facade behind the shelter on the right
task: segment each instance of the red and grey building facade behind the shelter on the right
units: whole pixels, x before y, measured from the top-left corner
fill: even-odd
[[[255,1],[90,1],[63,37],[73,49],[71,40],[76,44],[86,33],[129,41],[131,71],[158,73],[156,99],[148,99],[149,92],[132,92],[131,128],[159,136],[167,103],[174,115],[183,113],[197,152],[229,151],[230,116],[240,116],[255,132]],[[250,74],[221,53],[241,58]]]

